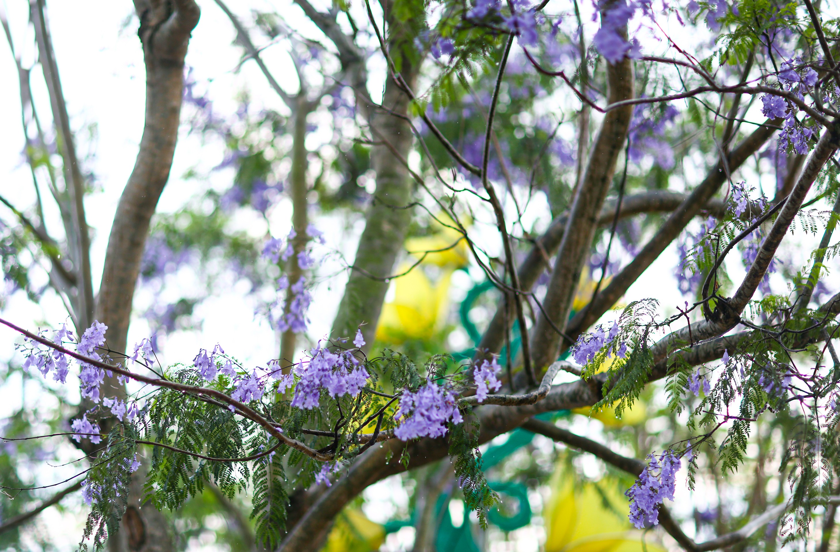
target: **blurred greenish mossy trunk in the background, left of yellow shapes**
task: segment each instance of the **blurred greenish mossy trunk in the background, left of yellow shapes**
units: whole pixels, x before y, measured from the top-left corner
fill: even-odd
[[[385,3],[387,5],[387,3]],[[402,36],[402,26],[389,9],[391,47],[411,48],[411,42]],[[394,55],[393,53],[391,55]],[[412,55],[402,55],[400,74],[409,87],[417,81],[417,60]],[[388,290],[396,259],[402,252],[412,211],[408,208],[412,198],[412,180],[402,159],[408,159],[412,148],[412,131],[407,119],[409,97],[396,79],[389,78],[385,86],[382,105],[370,121],[375,145],[371,163],[376,171],[376,191],[365,216],[365,231],[350,271],[339,313],[333,321],[332,338],[352,337],[362,325],[366,347],[373,344],[376,323]],[[401,116],[402,117],[399,117]],[[391,151],[393,148],[393,151]],[[399,155],[396,155],[399,154]]]

